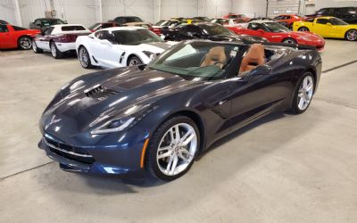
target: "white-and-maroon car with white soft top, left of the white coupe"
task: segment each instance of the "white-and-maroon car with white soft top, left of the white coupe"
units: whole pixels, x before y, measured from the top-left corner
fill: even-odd
[[[32,49],[36,54],[50,51],[55,59],[66,52],[76,50],[76,39],[91,32],[80,24],[54,25],[32,40]]]

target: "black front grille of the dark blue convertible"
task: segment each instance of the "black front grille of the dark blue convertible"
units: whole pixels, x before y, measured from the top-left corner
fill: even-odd
[[[93,156],[82,148],[61,144],[48,137],[44,137],[44,141],[52,153],[56,153],[64,158],[85,164],[92,164],[95,162]]]

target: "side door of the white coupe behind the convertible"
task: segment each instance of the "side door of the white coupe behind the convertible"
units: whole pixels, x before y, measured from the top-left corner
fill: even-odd
[[[95,32],[95,37],[91,42],[91,53],[95,60],[104,67],[115,68],[120,66],[120,56],[123,53],[120,46],[113,44],[107,30]]]

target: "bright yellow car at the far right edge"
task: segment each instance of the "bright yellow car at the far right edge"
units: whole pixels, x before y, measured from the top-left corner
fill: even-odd
[[[311,31],[321,37],[357,39],[357,24],[348,24],[335,17],[323,16],[306,21],[295,21],[294,31]]]

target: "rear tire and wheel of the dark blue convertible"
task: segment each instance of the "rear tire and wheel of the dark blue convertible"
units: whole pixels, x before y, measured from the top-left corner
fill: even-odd
[[[315,78],[311,72],[305,72],[295,90],[291,111],[301,114],[306,111],[311,103],[314,93]]]

